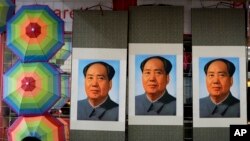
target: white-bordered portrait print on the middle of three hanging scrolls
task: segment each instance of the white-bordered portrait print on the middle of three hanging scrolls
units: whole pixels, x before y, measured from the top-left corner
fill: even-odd
[[[182,62],[182,44],[129,44],[129,125],[183,125]]]

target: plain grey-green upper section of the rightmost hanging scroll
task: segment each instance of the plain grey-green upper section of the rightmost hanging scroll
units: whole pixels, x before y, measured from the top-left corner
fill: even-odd
[[[192,44],[246,45],[244,9],[192,9]]]

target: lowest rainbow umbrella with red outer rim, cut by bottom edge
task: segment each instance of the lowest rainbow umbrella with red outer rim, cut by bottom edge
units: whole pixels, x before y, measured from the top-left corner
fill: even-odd
[[[64,124],[50,115],[18,117],[8,128],[9,141],[36,138],[41,141],[64,141]]]

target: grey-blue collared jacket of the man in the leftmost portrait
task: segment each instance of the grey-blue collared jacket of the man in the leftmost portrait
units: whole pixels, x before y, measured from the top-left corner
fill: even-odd
[[[77,120],[118,121],[119,105],[110,97],[99,107],[92,108],[87,99],[77,103]]]

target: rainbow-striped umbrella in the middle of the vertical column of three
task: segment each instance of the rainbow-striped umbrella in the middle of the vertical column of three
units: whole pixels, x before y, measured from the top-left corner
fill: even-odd
[[[3,100],[18,115],[43,114],[60,98],[60,73],[46,62],[18,61],[3,81]]]

